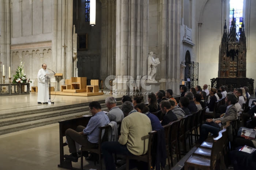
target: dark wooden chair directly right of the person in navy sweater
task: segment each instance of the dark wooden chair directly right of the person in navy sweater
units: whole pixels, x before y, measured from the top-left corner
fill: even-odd
[[[167,161],[168,161],[168,165],[169,165],[169,169],[171,169],[171,166],[170,166],[170,158],[171,158],[171,164],[173,166],[173,156],[172,156],[172,148],[171,146],[173,146],[171,144],[171,131],[170,129],[172,129],[174,132],[173,134],[173,141],[175,142],[175,146],[176,146],[176,150],[177,150],[177,133],[175,134],[177,128],[178,128],[178,123],[179,123],[180,120],[176,120],[176,121],[173,121],[173,122],[170,122],[169,124],[166,124],[163,126],[163,129],[165,131],[165,143],[166,143],[166,158],[167,158]],[[177,154],[177,153],[176,153]],[[177,154],[178,156],[178,154]]]

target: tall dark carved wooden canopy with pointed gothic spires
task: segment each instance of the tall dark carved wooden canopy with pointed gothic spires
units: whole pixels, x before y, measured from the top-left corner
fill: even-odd
[[[221,40],[221,50],[219,52],[219,71],[218,77],[246,77],[246,37],[244,32],[244,20],[238,39],[236,32],[236,21],[233,19],[230,32],[227,33],[225,20],[224,32]]]

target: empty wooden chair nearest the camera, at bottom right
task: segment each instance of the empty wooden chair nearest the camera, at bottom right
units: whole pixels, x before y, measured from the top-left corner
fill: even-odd
[[[196,155],[191,155],[188,160],[185,162],[185,170],[188,170],[189,167],[194,167],[198,169],[206,169],[206,170],[214,170],[217,168],[219,159],[220,159],[220,152],[221,152],[221,145],[222,143],[222,134],[219,133],[219,136],[214,139],[211,156],[210,159],[199,157]]]

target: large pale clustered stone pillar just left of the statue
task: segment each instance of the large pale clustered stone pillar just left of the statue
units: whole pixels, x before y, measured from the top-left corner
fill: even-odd
[[[147,75],[148,0],[118,0],[116,16],[115,83],[120,86],[114,88],[133,91],[135,82],[129,88],[126,84],[132,83],[136,75]]]

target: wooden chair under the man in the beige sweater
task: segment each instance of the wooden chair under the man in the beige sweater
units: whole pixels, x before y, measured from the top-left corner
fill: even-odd
[[[148,133],[148,136],[146,139],[148,139],[148,150],[147,153],[144,155],[127,155],[126,156],[126,170],[129,170],[129,159],[135,159],[137,161],[143,161],[148,163],[148,170],[152,170],[151,162],[152,162],[152,155],[151,155],[151,148],[153,145],[156,145],[153,143],[154,137],[157,134],[157,131],[151,131]]]

